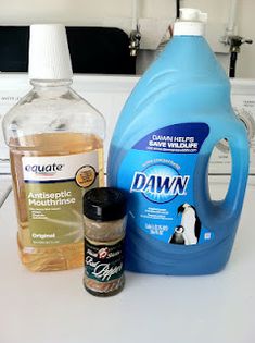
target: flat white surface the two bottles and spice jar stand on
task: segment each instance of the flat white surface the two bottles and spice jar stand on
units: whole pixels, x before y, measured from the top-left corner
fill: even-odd
[[[214,193],[222,187],[214,183]],[[31,273],[21,265],[11,195],[0,209],[0,342],[254,343],[254,222],[253,179],[224,271],[189,278],[126,272],[122,293],[97,298],[84,290],[82,269]]]

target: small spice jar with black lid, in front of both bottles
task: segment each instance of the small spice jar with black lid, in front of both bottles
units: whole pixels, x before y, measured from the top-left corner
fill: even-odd
[[[84,197],[86,290],[98,296],[124,287],[126,198],[112,187],[93,188]]]

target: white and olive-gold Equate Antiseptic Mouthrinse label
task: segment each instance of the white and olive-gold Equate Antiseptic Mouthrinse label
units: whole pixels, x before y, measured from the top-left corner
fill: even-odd
[[[81,242],[82,196],[98,186],[98,152],[23,157],[22,167],[31,245]]]

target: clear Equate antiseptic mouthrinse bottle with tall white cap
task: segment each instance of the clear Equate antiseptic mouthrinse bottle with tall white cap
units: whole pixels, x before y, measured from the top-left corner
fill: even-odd
[[[18,249],[33,271],[84,264],[82,196],[103,184],[104,119],[72,88],[65,27],[30,27],[33,89],[4,118]]]

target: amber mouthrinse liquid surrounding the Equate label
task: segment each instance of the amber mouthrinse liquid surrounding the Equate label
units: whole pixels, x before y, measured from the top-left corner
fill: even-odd
[[[18,221],[18,250],[22,262],[31,271],[54,271],[81,267],[84,265],[84,240],[63,245],[38,246],[33,244],[22,158],[24,156],[69,156],[89,151],[97,152],[99,186],[103,186],[103,143],[95,135],[67,132],[44,133],[20,137],[17,142],[15,139],[10,142],[11,170]],[[82,236],[82,224],[80,231]]]

